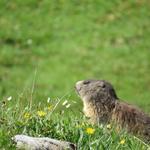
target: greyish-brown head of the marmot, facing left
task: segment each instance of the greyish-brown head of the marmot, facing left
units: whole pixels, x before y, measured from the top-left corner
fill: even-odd
[[[78,81],[75,88],[83,102],[108,106],[118,99],[113,86],[105,80]]]

